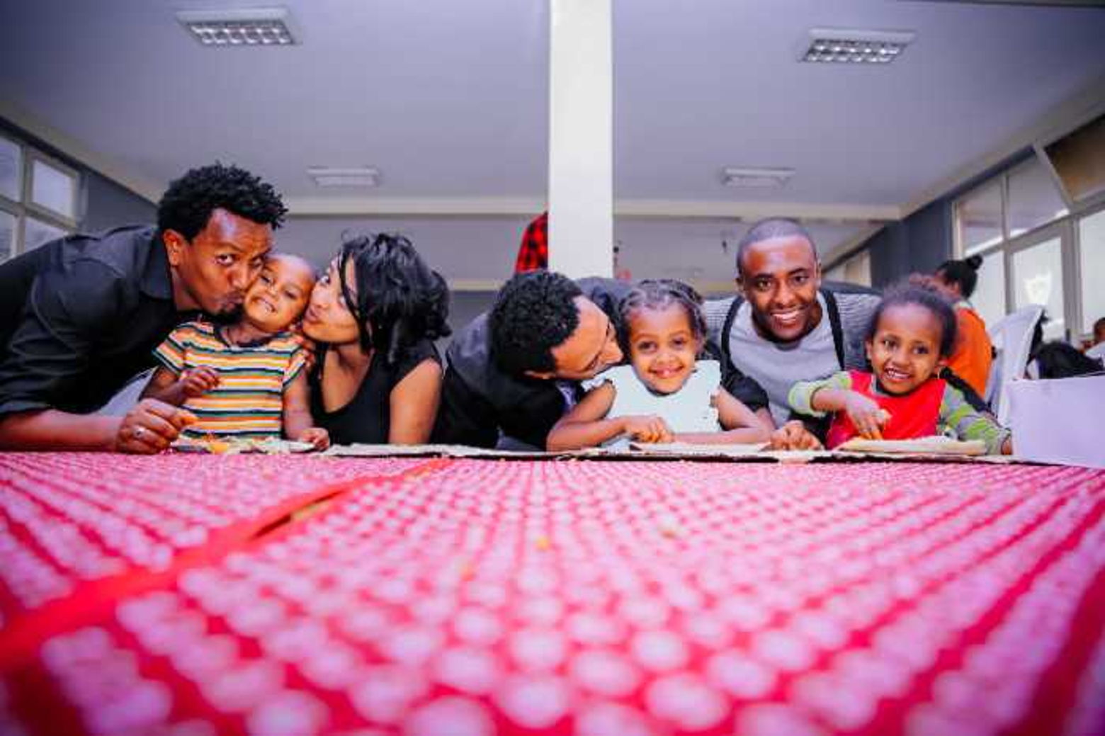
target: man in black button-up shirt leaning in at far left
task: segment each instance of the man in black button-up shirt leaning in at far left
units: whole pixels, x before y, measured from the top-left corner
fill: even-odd
[[[286,209],[214,164],[169,185],[156,227],[62,238],[0,265],[0,448],[164,450],[189,422],[146,399],[95,414],[197,313],[233,318]]]

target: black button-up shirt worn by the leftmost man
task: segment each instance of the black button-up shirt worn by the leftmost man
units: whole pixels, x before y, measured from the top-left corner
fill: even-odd
[[[98,409],[186,318],[156,228],[71,235],[0,265],[0,414]]]

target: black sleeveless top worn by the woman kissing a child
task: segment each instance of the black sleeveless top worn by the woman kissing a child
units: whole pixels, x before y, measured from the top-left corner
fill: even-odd
[[[315,369],[308,377],[311,383],[311,414],[315,423],[330,433],[332,444],[387,444],[388,431],[391,427],[391,389],[406,378],[427,358],[432,358],[439,365],[441,357],[438,348],[428,339],[421,339],[409,346],[399,359],[391,365],[381,359],[381,355],[372,356],[372,365],[368,375],[360,382],[360,388],[354,393],[349,403],[336,411],[327,412],[323,408],[323,364],[326,361],[328,346],[322,346]]]

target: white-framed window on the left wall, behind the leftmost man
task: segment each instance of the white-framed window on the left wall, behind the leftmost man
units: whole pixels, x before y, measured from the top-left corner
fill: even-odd
[[[76,229],[81,175],[0,134],[0,262]]]

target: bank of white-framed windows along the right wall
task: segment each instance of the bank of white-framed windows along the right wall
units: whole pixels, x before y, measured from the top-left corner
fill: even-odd
[[[1039,304],[1044,337],[1077,343],[1105,315],[1091,283],[1105,272],[1105,201],[1072,207],[1035,156],[957,199],[954,221],[957,256],[982,256],[971,302],[987,324]]]

